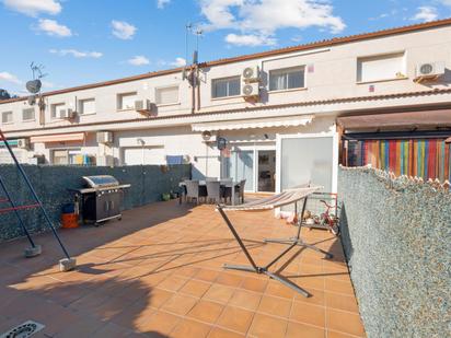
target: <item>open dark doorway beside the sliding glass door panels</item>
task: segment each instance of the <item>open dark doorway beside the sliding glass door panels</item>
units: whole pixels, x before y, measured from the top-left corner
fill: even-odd
[[[276,191],[276,151],[257,150],[257,191]]]

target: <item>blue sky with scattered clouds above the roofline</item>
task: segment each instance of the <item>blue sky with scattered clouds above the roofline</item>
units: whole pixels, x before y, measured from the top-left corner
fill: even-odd
[[[451,0],[0,0],[0,89],[24,94],[451,16]],[[189,54],[196,36],[189,34]],[[188,57],[190,59],[190,57]]]

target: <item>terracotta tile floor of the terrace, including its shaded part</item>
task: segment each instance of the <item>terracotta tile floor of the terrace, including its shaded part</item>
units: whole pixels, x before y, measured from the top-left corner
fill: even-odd
[[[269,261],[296,229],[270,212],[230,213],[257,263]],[[25,259],[26,241],[0,245],[0,334],[33,319],[34,337],[365,337],[339,241],[319,230],[304,240],[331,260],[296,248],[273,270],[313,296],[266,276],[223,270],[245,256],[212,206],[159,202],[124,212],[120,222],[61,230],[78,269],[59,272],[49,234]]]

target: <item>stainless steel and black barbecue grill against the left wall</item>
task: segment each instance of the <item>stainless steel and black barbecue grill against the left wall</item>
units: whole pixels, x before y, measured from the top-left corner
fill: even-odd
[[[83,176],[84,187],[72,189],[78,194],[80,211],[83,223],[99,223],[118,219],[120,220],[124,189],[129,184],[119,184],[111,175]]]

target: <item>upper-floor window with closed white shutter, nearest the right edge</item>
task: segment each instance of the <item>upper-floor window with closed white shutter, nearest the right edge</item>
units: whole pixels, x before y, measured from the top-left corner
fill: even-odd
[[[371,82],[405,78],[404,53],[357,59],[357,81]]]

